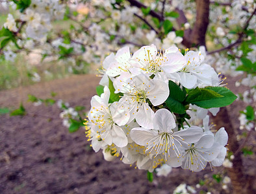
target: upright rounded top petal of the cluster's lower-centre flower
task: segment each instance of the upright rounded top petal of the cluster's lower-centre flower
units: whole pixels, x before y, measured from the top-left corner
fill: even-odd
[[[176,127],[173,115],[167,109],[159,109],[153,118],[154,129],[159,130],[159,133],[171,133]]]

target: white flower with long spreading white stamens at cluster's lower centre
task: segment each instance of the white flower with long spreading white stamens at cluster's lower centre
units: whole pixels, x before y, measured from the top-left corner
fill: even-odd
[[[203,130],[200,127],[190,127],[173,132],[176,127],[172,113],[167,109],[159,109],[153,117],[153,129],[136,127],[131,131],[131,138],[140,146],[147,147],[146,152],[164,155],[166,164],[181,166],[182,147],[197,142]]]

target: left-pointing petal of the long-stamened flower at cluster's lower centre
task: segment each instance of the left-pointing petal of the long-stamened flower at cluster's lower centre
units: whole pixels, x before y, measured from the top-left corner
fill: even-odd
[[[142,127],[136,127],[131,130],[132,140],[140,146],[146,146],[155,135],[157,134],[154,131]]]

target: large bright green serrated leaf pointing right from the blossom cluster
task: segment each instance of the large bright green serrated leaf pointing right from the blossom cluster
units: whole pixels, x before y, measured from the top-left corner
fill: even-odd
[[[198,105],[204,109],[225,107],[237,99],[237,96],[225,87],[206,87],[188,92],[185,102]]]

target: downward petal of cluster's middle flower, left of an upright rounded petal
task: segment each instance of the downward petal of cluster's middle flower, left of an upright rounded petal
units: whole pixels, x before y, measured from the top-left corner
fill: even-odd
[[[154,115],[154,111],[152,111],[148,103],[142,103],[142,105],[138,108],[138,112],[135,113],[135,119],[140,126],[146,129],[153,129]]]

